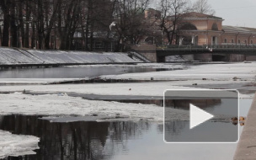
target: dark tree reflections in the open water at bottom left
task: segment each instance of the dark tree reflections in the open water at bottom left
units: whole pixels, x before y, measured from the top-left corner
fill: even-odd
[[[145,121],[50,123],[38,118],[8,115],[3,117],[0,125],[1,130],[14,134],[40,137],[40,149],[35,151],[36,155],[25,156],[25,159],[109,159],[116,147],[125,150],[125,141],[140,137],[150,127]]]

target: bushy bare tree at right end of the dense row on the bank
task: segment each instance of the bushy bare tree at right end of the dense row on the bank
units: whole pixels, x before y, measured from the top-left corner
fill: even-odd
[[[118,36],[117,51],[124,51],[126,41],[136,44],[137,35],[142,34],[145,24],[144,11],[149,0],[115,0],[113,19],[116,21],[115,32]]]

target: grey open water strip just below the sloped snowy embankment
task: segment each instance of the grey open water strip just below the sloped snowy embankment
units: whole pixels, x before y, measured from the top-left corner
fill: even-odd
[[[135,66],[52,67],[0,70],[0,78],[83,78],[130,72],[158,72],[171,69]]]

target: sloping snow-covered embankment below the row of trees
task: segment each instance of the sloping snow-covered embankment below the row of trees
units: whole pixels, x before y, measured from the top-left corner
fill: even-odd
[[[55,64],[55,63],[120,63],[143,62],[128,56],[128,53],[89,52],[89,51],[39,51],[0,48],[2,64]]]

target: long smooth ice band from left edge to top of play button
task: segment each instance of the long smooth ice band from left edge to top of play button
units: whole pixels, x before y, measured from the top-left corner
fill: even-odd
[[[1,81],[0,81],[1,82]],[[58,84],[58,85],[29,85],[35,80],[19,79],[16,83],[27,83],[26,85],[17,86],[1,86],[0,92],[23,92],[30,91],[35,93],[84,93],[84,94],[99,94],[99,95],[144,95],[144,96],[163,96],[166,89],[203,89],[192,87],[193,83],[199,85],[213,85],[215,88],[225,88],[232,84],[233,89],[236,86],[245,86],[248,82],[241,81],[172,81],[172,82],[152,82],[152,83],[86,83],[86,84]],[[51,82],[51,79],[45,79],[43,82]],[[8,82],[6,82],[8,83]],[[13,83],[14,80],[13,80]],[[40,79],[38,80],[40,83]],[[218,87],[221,86],[221,87]],[[115,89],[113,89],[115,88]],[[131,88],[131,89],[130,89]],[[209,88],[209,87],[208,87]],[[2,96],[2,94],[1,94]],[[242,99],[252,99],[253,94],[241,94]]]

